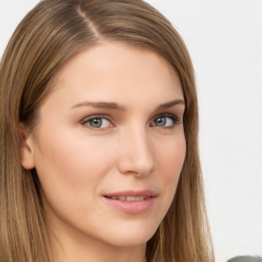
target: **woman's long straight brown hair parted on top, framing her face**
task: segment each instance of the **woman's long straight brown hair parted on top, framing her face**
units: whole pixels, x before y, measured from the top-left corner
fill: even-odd
[[[26,15],[10,39],[0,64],[0,260],[52,261],[37,174],[20,164],[18,126],[23,122],[32,130],[58,69],[103,41],[124,41],[160,54],[180,77],[186,102],[186,158],[171,207],[147,243],[147,261],[214,261],[192,63],[177,31],[142,0],[45,0]]]

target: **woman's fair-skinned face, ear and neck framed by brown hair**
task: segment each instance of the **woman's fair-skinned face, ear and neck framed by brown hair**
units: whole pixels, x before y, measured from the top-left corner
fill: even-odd
[[[54,83],[22,165],[37,170],[55,261],[146,261],[186,152],[177,74],[111,42],[77,54]]]

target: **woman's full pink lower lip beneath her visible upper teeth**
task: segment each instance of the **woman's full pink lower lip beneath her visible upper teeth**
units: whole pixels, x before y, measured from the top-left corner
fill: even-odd
[[[148,211],[155,203],[156,197],[141,201],[126,201],[103,197],[104,201],[113,206],[114,208],[128,214],[142,214]]]

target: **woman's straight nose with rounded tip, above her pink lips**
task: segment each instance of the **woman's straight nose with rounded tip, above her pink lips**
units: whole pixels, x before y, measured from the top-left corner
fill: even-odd
[[[154,150],[144,128],[130,130],[120,143],[118,169],[123,174],[146,176],[155,168]]]

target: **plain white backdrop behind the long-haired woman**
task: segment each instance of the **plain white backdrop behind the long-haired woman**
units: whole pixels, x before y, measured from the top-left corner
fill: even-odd
[[[182,35],[200,105],[200,146],[218,262],[262,255],[262,0],[147,0]],[[0,57],[37,0],[0,0]]]

